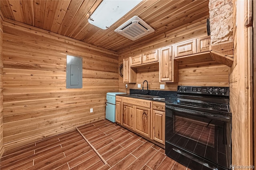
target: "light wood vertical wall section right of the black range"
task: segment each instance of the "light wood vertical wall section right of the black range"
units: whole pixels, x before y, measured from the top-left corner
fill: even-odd
[[[232,111],[232,164],[254,165],[252,145],[252,61],[248,53],[247,10],[249,1],[233,1],[234,63],[230,68]],[[238,4],[239,3],[239,4]],[[255,162],[254,162],[255,163]]]

